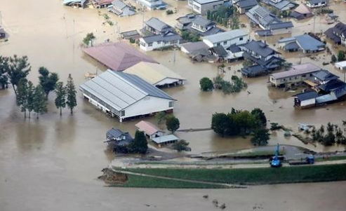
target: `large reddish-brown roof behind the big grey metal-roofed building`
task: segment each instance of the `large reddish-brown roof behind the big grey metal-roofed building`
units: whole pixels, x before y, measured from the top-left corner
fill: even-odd
[[[123,71],[139,62],[158,63],[125,42],[104,43],[83,48],[83,51],[114,71]]]

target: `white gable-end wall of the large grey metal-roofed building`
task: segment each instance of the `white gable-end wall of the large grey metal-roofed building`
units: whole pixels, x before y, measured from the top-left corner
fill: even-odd
[[[173,109],[173,107],[169,107],[169,102],[171,101],[173,100],[147,96],[135,104],[132,104],[130,107],[127,107],[125,109],[125,116],[121,116],[121,118],[152,114],[158,111]]]

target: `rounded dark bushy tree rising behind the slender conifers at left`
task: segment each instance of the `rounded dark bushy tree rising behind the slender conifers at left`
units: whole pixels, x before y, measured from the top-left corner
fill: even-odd
[[[46,67],[39,68],[39,84],[44,89],[46,93],[46,98],[51,91],[55,89],[56,83],[59,81],[59,76],[56,73],[50,73]]]

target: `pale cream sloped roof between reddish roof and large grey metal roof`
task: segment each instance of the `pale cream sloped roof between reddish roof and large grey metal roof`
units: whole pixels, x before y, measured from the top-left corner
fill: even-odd
[[[140,62],[124,70],[124,73],[135,74],[145,81],[155,85],[164,79],[185,80],[179,74],[176,74],[171,69],[168,69],[162,64],[154,64],[149,62]]]

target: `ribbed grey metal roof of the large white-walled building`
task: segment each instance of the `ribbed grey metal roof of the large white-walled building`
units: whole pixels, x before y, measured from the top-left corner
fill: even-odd
[[[91,93],[91,95],[95,95],[95,97],[117,109],[117,111],[129,107],[147,96],[173,100],[164,91],[152,86],[152,84],[147,83],[138,76],[113,72],[110,69],[94,79],[86,81],[80,88]]]

